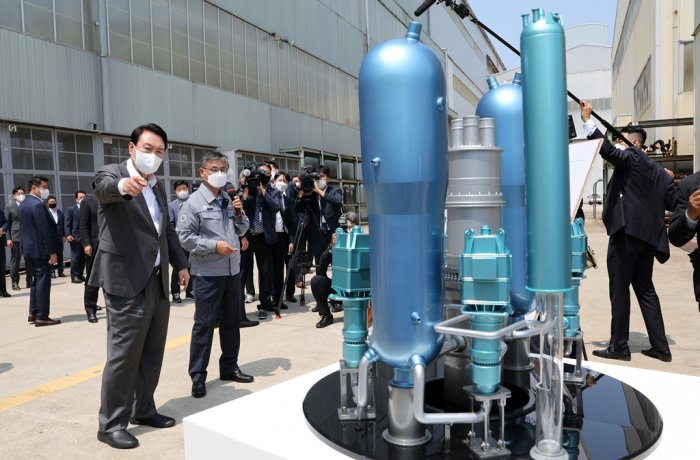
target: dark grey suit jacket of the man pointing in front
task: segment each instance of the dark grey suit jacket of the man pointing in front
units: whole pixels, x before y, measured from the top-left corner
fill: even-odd
[[[160,180],[153,188],[160,208],[160,231],[156,231],[143,193],[136,197],[119,193],[119,181],[130,177],[126,161],[104,166],[95,176],[100,239],[88,284],[119,297],[134,297],[146,286],[160,250],[160,277],[167,293],[168,263],[180,271],[187,268],[187,260],[170,223],[165,188]]]

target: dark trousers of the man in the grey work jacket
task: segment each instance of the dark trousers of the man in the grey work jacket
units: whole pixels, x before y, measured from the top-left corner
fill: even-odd
[[[221,357],[219,373],[232,374],[238,370],[238,350],[241,346],[240,273],[234,276],[195,276],[194,326],[190,343],[189,373],[193,382],[206,382],[216,320],[219,323]]]

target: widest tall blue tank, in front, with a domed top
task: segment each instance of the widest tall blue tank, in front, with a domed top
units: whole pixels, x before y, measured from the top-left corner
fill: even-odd
[[[370,232],[373,331],[380,359],[408,368],[442,346],[444,214],[447,194],[445,74],[421,44],[406,38],[373,48],[360,68],[362,173]]]

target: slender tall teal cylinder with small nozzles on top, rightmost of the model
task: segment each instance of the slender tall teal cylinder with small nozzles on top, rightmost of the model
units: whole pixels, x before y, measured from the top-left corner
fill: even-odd
[[[524,14],[520,35],[525,116],[528,288],[571,289],[569,128],[564,27],[557,13]]]

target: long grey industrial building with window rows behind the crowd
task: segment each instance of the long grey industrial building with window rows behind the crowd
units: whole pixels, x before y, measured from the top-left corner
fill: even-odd
[[[5,0],[0,14],[0,202],[34,173],[59,206],[128,158],[154,122],[156,173],[198,182],[219,149],[236,167],[325,163],[366,218],[357,81],[368,49],[403,37],[418,0]],[[418,18],[445,65],[450,115],[474,112],[504,70],[486,35],[443,6]],[[174,198],[174,194],[171,198]]]

